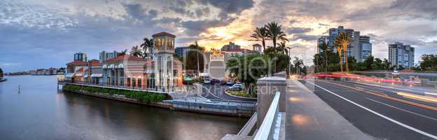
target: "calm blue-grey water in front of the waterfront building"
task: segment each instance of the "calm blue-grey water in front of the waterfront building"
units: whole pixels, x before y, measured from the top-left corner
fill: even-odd
[[[56,76],[0,83],[0,139],[221,139],[247,120],[62,92]]]

